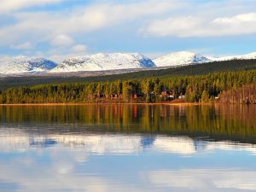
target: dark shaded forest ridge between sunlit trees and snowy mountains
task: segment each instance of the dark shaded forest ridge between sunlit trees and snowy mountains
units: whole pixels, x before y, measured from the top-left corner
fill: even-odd
[[[219,73],[228,71],[255,70],[256,60],[232,60],[232,61],[214,61],[200,65],[189,65],[183,67],[171,67],[166,69],[150,69],[140,72],[128,73],[127,70],[122,74],[100,75],[95,77],[82,77],[87,73],[77,73],[77,76],[68,76],[67,74],[56,75],[29,75],[24,77],[4,77],[0,78],[0,90],[6,90],[10,87],[35,86],[38,84],[61,84],[75,82],[102,82],[129,79],[146,79],[148,77],[170,77],[170,76],[190,76],[205,75],[208,73]],[[0,72],[1,73],[1,72]],[[91,74],[91,73],[90,73]],[[79,76],[80,75],[80,76]],[[88,74],[87,74],[88,75]]]

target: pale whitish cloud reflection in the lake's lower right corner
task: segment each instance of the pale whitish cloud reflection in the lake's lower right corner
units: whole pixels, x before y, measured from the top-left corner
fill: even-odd
[[[182,169],[149,172],[150,183],[178,191],[255,190],[256,172],[242,170]],[[234,191],[234,190],[232,190]]]

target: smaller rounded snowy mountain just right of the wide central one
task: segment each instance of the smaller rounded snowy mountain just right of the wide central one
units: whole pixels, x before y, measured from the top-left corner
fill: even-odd
[[[169,55],[160,56],[159,58],[156,58],[153,61],[157,67],[167,67],[205,63],[210,62],[212,60],[200,54],[195,54],[188,51],[181,51],[171,53]]]

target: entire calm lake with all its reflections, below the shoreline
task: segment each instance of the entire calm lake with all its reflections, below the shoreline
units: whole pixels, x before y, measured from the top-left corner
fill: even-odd
[[[256,106],[0,106],[0,191],[255,191]]]

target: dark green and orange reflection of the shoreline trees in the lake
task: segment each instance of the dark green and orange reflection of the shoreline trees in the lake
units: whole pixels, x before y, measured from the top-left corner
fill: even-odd
[[[0,121],[68,125],[81,131],[183,134],[255,143],[256,107],[243,105],[2,106]],[[63,127],[65,129],[65,126]]]

